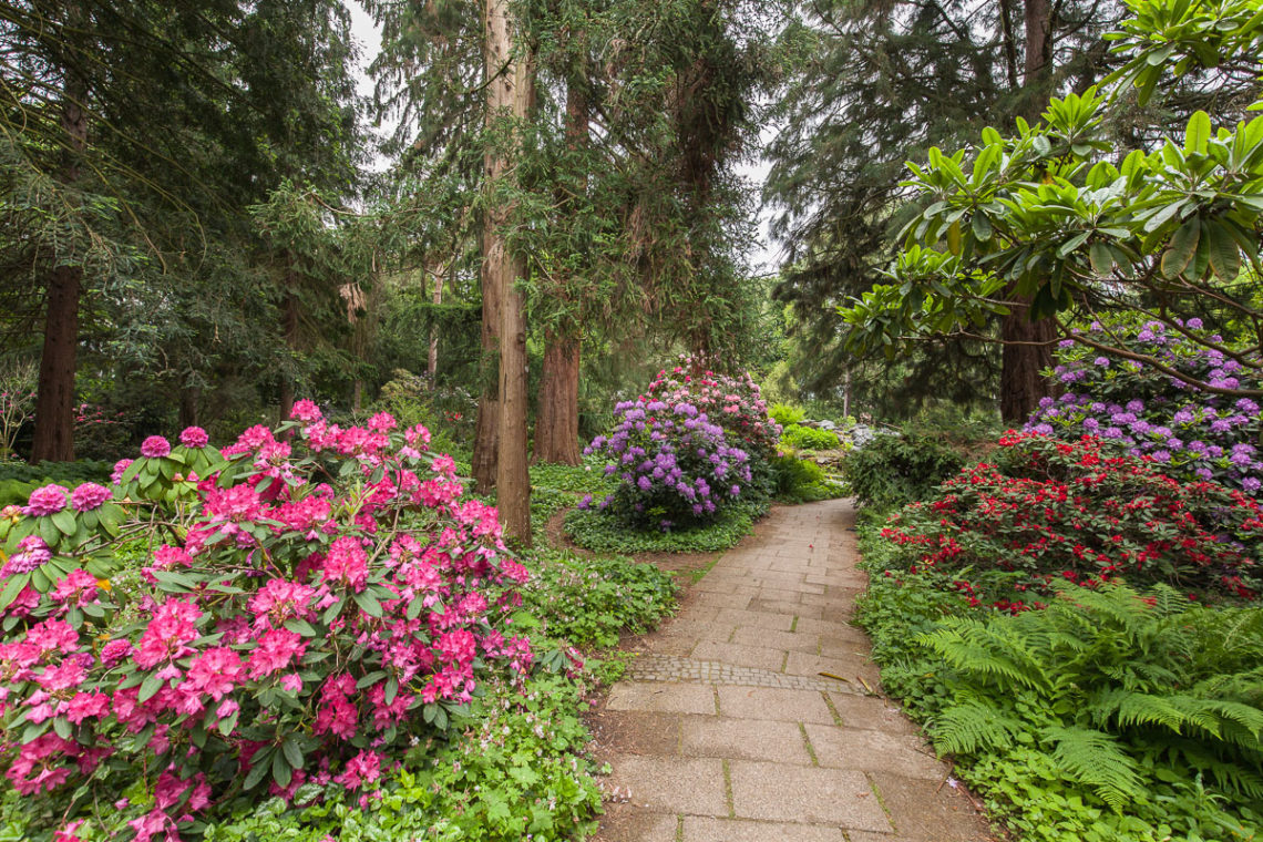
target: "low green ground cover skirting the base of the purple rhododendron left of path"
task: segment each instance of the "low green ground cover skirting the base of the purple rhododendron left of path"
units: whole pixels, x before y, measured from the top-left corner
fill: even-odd
[[[765,502],[735,502],[705,526],[642,531],[599,510],[573,509],[566,514],[566,534],[597,553],[711,553],[735,547],[767,510]]]

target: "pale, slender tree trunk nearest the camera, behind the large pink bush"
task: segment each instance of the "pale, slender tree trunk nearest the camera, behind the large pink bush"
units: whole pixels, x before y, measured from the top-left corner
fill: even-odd
[[[524,120],[533,93],[530,62],[513,54],[513,21],[508,0],[486,0],[485,61],[488,120]],[[517,126],[514,126],[517,130]],[[488,188],[512,178],[512,160],[488,155]],[[523,276],[522,260],[509,251],[505,230],[512,206],[489,202],[482,231],[484,280],[495,289],[499,305],[499,424],[495,463],[496,502],[500,523],[514,539],[530,543],[530,475],[527,465],[527,322],[517,282]],[[484,302],[486,292],[484,290]],[[481,420],[481,418],[480,418]]]

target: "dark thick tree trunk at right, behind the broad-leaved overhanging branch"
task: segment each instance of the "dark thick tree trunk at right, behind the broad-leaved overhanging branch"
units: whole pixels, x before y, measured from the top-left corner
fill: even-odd
[[[1052,5],[1050,0],[1024,0],[1026,61],[1022,85],[1027,117],[1037,120],[1047,105],[1052,78]],[[1023,424],[1052,394],[1052,384],[1039,372],[1052,367],[1057,328],[1051,319],[1031,321],[1031,303],[1009,289],[1014,302],[1000,323],[1004,351],[1000,360],[1000,418]]]

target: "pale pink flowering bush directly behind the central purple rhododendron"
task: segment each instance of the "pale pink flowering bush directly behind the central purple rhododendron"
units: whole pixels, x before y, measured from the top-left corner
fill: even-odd
[[[692,404],[727,434],[730,444],[758,461],[770,458],[781,439],[781,424],[768,414],[768,404],[750,374],[739,377],[716,374],[707,360],[681,355],[677,365],[663,369],[645,390],[648,400],[674,406]]]

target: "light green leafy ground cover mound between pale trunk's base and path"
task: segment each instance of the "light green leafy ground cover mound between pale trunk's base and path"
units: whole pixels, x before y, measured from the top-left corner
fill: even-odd
[[[653,564],[554,549],[523,563],[530,569],[523,608],[542,634],[575,646],[613,646],[623,632],[644,634],[676,607],[674,582]]]

